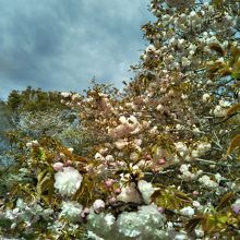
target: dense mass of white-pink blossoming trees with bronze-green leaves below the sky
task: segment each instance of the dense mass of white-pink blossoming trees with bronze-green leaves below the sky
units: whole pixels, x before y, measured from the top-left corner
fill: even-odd
[[[240,1],[149,10],[122,92],[10,94],[3,237],[240,238]]]

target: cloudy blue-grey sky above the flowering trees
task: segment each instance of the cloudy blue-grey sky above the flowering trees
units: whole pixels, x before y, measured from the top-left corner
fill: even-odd
[[[0,0],[0,98],[27,85],[82,91],[131,76],[148,0]]]

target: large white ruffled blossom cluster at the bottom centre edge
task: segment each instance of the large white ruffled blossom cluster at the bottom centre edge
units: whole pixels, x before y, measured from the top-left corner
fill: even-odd
[[[156,205],[141,206],[137,212],[123,212],[116,219],[112,214],[88,215],[89,232],[103,239],[159,239],[167,235],[161,230],[166,218]],[[95,237],[96,239],[96,237]]]

